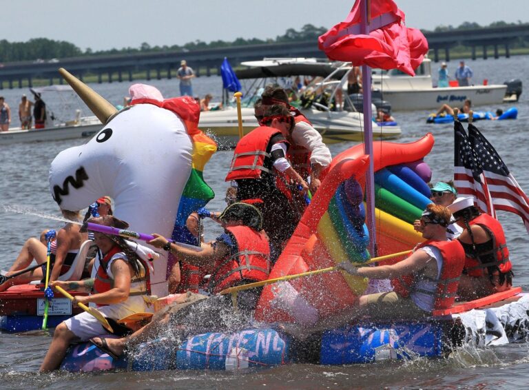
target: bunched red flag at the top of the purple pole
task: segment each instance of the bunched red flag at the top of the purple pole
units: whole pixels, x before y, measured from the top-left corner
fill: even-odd
[[[398,69],[415,76],[415,69],[428,52],[422,32],[406,28],[404,12],[392,0],[371,0],[370,32],[361,34],[361,1],[356,1],[345,21],[320,36],[320,50],[331,60]]]

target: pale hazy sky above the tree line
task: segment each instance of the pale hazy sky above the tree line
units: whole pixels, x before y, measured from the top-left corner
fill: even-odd
[[[433,30],[465,21],[529,22],[527,0],[395,0],[406,25]],[[0,39],[68,41],[86,50],[191,41],[275,39],[311,23],[331,28],[344,21],[353,0],[1,0]],[[499,6],[504,4],[505,6]]]

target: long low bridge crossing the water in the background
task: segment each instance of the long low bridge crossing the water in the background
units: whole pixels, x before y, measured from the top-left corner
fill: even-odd
[[[477,58],[477,48],[482,48],[484,59],[488,49],[492,48],[494,58],[499,58],[499,48],[505,48],[506,57],[510,57],[510,43],[519,38],[529,37],[529,25],[516,25],[501,28],[482,28],[477,30],[456,30],[450,32],[432,32],[426,34],[434,61],[439,61],[439,52],[444,59],[450,60],[450,48],[465,45],[472,50],[472,58]],[[98,82],[132,81],[135,72],[145,72],[147,80],[176,76],[180,61],[185,59],[196,73],[209,76],[212,70],[218,72],[220,63],[227,57],[231,65],[242,61],[255,61],[263,57],[324,57],[315,41],[295,43],[273,43],[264,45],[232,46],[191,52],[151,52],[139,54],[116,54],[110,56],[76,57],[61,59],[59,63],[6,63],[0,68],[0,89],[6,85],[21,88],[27,80],[32,86],[33,79],[49,79],[63,82],[57,69],[66,68],[79,79],[87,74],[96,74]]]

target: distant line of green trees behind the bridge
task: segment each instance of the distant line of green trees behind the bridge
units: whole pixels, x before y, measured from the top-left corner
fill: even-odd
[[[518,23],[506,23],[504,21],[496,21],[487,26],[481,26],[478,23],[464,22],[457,27],[452,25],[439,25],[433,30],[434,32],[445,32],[453,30],[474,30],[479,28],[491,27],[506,27],[512,25],[526,24],[518,21]],[[138,48],[121,48],[111,50],[97,50],[94,51],[87,48],[85,51],[78,48],[76,45],[66,41],[54,41],[47,38],[34,38],[27,42],[8,42],[6,39],[0,40],[0,63],[16,62],[16,61],[35,61],[37,59],[63,59],[69,57],[84,57],[97,56],[108,54],[135,54],[145,52],[188,52],[191,50],[203,50],[214,48],[225,48],[229,46],[240,45],[260,45],[264,43],[285,43],[285,42],[301,42],[301,41],[315,41],[321,34],[326,32],[327,28],[315,27],[312,24],[304,25],[301,30],[289,28],[283,35],[278,35],[276,39],[258,39],[258,38],[237,38],[232,42],[229,41],[211,41],[206,43],[204,41],[196,40],[185,43],[184,45],[163,45],[151,46],[147,42],[141,43]],[[423,30],[423,32],[429,32]],[[519,42],[514,43],[512,47],[526,47],[527,41],[520,39]]]

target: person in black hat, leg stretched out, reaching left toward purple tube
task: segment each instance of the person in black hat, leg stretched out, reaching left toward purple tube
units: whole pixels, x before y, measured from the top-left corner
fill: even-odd
[[[227,287],[245,285],[266,280],[269,275],[269,243],[262,232],[262,215],[253,205],[233,203],[220,214],[224,234],[214,243],[203,244],[203,251],[194,252],[166,238],[154,234],[149,241],[154,247],[163,248],[181,256],[191,265],[209,271],[211,278],[207,289],[216,294]],[[182,294],[178,302],[172,303],[155,314],[149,325],[119,339],[94,338],[91,341],[111,356],[121,356],[127,348],[151,340],[160,332],[169,330],[172,337],[178,332],[183,336],[200,331],[225,331],[247,325],[251,311],[255,308],[261,289],[249,289],[238,294],[238,311],[234,311],[231,296],[208,298],[190,291]]]

